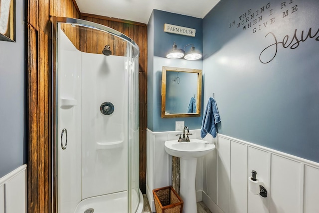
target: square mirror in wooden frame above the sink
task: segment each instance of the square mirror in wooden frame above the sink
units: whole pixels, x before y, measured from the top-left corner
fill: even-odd
[[[199,117],[201,69],[162,67],[161,117]]]

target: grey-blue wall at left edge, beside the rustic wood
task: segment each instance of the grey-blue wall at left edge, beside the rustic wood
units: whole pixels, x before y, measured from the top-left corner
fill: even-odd
[[[16,0],[16,42],[0,41],[0,178],[25,164],[24,0]]]

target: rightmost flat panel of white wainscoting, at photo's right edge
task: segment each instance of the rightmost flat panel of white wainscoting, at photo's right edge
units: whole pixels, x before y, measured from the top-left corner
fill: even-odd
[[[304,213],[319,213],[319,169],[305,166]]]

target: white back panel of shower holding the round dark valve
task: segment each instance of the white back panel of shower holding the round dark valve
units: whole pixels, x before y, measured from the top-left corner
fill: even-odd
[[[125,57],[82,53],[82,200],[128,188],[127,78]]]

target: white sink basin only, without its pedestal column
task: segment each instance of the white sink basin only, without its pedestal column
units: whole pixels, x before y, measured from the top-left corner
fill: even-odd
[[[199,139],[189,142],[165,141],[165,151],[178,158],[200,158],[215,149],[215,145]]]

